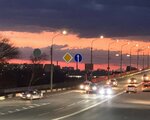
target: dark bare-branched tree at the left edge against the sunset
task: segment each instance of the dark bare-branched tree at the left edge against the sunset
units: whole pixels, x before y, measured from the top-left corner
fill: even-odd
[[[7,38],[0,38],[0,62],[5,63],[9,59],[17,58],[19,50]]]

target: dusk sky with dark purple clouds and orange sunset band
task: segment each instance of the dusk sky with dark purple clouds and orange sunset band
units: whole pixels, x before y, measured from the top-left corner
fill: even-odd
[[[0,0],[0,35],[19,48],[19,59],[23,61],[30,58],[35,48],[49,55],[53,36],[65,29],[67,35],[54,39],[54,61],[63,62],[63,55],[70,52],[72,56],[82,54],[82,63],[89,63],[91,42],[95,40],[96,68],[106,68],[107,50],[112,42],[111,66],[119,66],[120,57],[115,54],[130,42],[123,48],[123,63],[129,64],[126,55],[139,44],[132,49],[136,65],[137,49],[150,45],[149,13],[149,0]],[[140,54],[142,57],[143,51]],[[148,49],[144,54],[146,62]],[[140,61],[142,64],[142,58]]]

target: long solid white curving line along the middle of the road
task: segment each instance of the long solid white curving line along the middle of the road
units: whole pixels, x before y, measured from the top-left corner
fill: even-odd
[[[68,114],[68,115],[65,115],[65,116],[62,116],[62,117],[54,118],[54,119],[52,119],[52,120],[62,120],[62,119],[69,118],[69,117],[71,117],[71,116],[77,115],[77,114],[82,113],[82,112],[84,112],[84,111],[87,111],[87,110],[89,110],[89,109],[91,109],[91,108],[94,108],[94,107],[96,107],[96,106],[98,106],[98,105],[100,105],[100,104],[103,104],[103,103],[107,102],[108,100],[110,100],[110,99],[112,99],[112,98],[115,98],[115,97],[117,97],[117,96],[119,96],[119,95],[121,95],[121,94],[123,94],[123,93],[124,93],[124,91],[123,91],[123,92],[120,92],[120,93],[118,93],[118,94],[116,94],[116,95],[113,95],[113,96],[110,97],[110,98],[104,99],[104,100],[102,100],[101,102],[98,102],[98,103],[96,103],[96,104],[94,104],[94,105],[91,105],[91,106],[89,106],[89,107],[87,107],[87,108],[81,109],[81,110],[79,110],[79,111],[77,111],[77,112],[74,112],[74,113],[71,113],[71,114]]]

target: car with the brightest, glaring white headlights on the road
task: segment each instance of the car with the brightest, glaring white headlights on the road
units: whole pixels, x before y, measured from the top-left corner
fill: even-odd
[[[113,93],[112,87],[109,85],[105,85],[105,86],[99,88],[98,92],[100,95],[111,95]]]

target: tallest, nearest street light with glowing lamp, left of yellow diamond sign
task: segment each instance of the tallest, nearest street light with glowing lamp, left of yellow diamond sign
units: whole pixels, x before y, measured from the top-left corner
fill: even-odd
[[[57,36],[60,36],[60,35],[66,35],[67,34],[67,31],[66,30],[63,30],[62,32],[56,34],[55,36],[52,37],[51,41],[51,47],[50,47],[50,60],[51,60],[51,77],[50,77],[50,89],[51,91],[53,91],[53,41],[54,39],[57,37]]]

